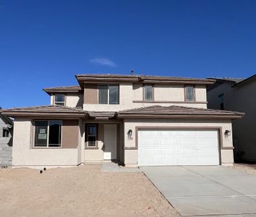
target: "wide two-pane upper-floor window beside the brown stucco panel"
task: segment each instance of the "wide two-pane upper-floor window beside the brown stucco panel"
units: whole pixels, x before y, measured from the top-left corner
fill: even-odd
[[[99,85],[99,104],[119,104],[119,85]]]

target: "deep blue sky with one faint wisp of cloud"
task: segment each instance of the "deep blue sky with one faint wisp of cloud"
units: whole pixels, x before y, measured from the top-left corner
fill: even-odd
[[[49,104],[75,74],[248,77],[256,1],[0,0],[0,106]]]

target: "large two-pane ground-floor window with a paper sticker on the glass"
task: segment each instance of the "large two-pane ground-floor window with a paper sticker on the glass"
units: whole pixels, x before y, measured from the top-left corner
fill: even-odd
[[[35,147],[60,147],[62,121],[35,121]]]

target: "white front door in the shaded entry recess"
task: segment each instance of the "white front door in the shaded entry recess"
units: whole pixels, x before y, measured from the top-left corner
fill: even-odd
[[[104,160],[117,159],[117,124],[104,124]]]

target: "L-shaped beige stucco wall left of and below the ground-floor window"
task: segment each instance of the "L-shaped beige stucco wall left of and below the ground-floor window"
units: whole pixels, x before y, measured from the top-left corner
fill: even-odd
[[[13,166],[76,166],[78,148],[32,148],[30,119],[15,119],[12,147]]]

